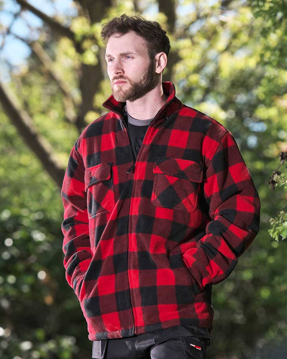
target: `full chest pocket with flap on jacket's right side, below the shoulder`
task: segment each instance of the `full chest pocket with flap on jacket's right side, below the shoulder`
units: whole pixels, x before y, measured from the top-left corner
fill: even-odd
[[[197,208],[202,165],[180,158],[157,157],[151,202],[160,207],[193,212]]]

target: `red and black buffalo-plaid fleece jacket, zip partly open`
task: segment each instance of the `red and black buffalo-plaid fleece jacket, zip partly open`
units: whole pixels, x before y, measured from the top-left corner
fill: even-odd
[[[162,85],[168,98],[136,160],[113,95],[70,153],[63,264],[90,340],[212,328],[212,285],[259,230],[259,196],[231,132]]]

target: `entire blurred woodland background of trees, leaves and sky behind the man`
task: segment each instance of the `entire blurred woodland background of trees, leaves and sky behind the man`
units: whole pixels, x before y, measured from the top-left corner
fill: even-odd
[[[163,81],[232,132],[261,200],[257,237],[213,286],[208,358],[287,358],[282,0],[0,0],[0,357],[91,358],[65,279],[60,191],[72,146],[107,112],[99,35],[122,13],[142,14],[168,32]]]

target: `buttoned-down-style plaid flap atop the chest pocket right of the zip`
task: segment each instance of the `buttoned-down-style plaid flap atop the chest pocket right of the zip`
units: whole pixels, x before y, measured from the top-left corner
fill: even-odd
[[[188,159],[157,157],[152,171],[194,182],[202,182],[203,179],[202,165]]]

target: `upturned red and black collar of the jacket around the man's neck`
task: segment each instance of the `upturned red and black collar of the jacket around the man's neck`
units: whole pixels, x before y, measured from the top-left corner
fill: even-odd
[[[163,81],[162,85],[163,92],[168,96],[168,98],[166,99],[163,107],[161,107],[161,109],[157,112],[155,118],[169,117],[182,104],[182,102],[175,97],[175,86],[171,81]],[[119,102],[113,97],[113,95],[110,95],[110,97],[102,103],[102,106],[121,117],[123,115],[125,104],[126,102]]]

